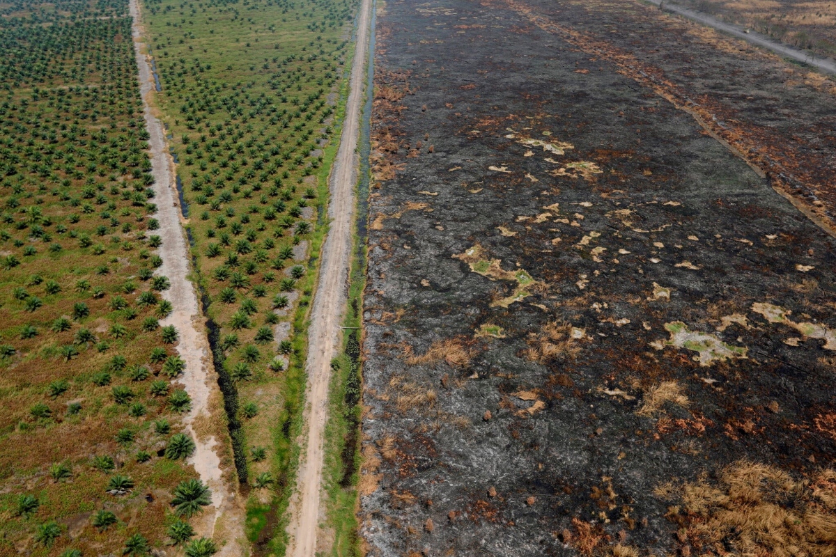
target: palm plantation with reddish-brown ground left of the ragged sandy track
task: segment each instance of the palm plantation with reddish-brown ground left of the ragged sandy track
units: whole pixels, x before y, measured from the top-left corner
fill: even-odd
[[[208,504],[127,8],[0,5],[0,554],[185,544]]]

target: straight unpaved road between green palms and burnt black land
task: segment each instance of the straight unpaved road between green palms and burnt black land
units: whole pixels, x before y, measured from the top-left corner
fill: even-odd
[[[291,538],[288,554],[294,557],[313,557],[317,544],[319,484],[322,481],[323,433],[328,418],[331,359],[336,356],[339,347],[339,327],[343,322],[349,273],[354,182],[357,177],[355,150],[363,100],[370,11],[371,0],[363,0],[343,133],[331,173],[331,225],[322,251],[322,267],[314,297],[308,349],[308,386],[305,392],[307,403],[303,415],[307,444],[303,448],[299,463],[297,491],[291,502],[291,518],[288,525]]]

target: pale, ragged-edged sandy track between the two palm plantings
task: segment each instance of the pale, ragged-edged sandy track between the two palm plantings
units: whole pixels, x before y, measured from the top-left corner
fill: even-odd
[[[204,513],[196,524],[198,534],[226,539],[227,544],[219,551],[220,555],[237,556],[243,554],[240,540],[244,539],[243,510],[238,503],[236,493],[222,476],[221,459],[215,451],[217,440],[214,436],[201,438],[195,431],[197,420],[212,419],[209,413],[210,397],[219,399],[217,376],[211,362],[209,345],[202,324],[201,312],[197,306],[194,285],[188,279],[189,251],[186,236],[180,220],[180,207],[176,202],[174,190],[174,163],[166,146],[166,134],[162,124],[151,113],[150,97],[154,92],[154,77],[151,73],[150,60],[142,52],[142,31],[138,0],[130,0],[130,15],[133,18],[133,38],[136,63],[140,72],[140,94],[144,104],[145,127],[150,134],[151,171],[154,175],[155,202],[160,221],[159,234],[162,246],[159,249],[163,264],[156,274],[164,275],[171,281],[171,289],[163,292],[163,297],[174,306],[171,316],[161,323],[174,325],[180,334],[177,352],[186,362],[186,369],[180,377],[186,392],[191,397],[191,412],[183,420],[188,432],[195,439],[195,454],[189,462],[205,484],[212,489],[213,513]],[[219,417],[215,417],[217,419]]]

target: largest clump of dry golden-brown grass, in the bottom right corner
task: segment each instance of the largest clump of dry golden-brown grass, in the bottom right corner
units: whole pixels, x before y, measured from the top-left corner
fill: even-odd
[[[683,528],[679,539],[705,555],[737,554],[790,557],[836,555],[836,472],[818,473],[811,481],[762,463],[738,461],[721,470],[716,484],[706,479],[674,494],[682,508],[669,514]]]

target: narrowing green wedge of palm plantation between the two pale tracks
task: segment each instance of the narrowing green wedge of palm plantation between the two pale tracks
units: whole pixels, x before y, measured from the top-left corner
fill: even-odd
[[[354,2],[145,3],[255,554],[282,551]]]

